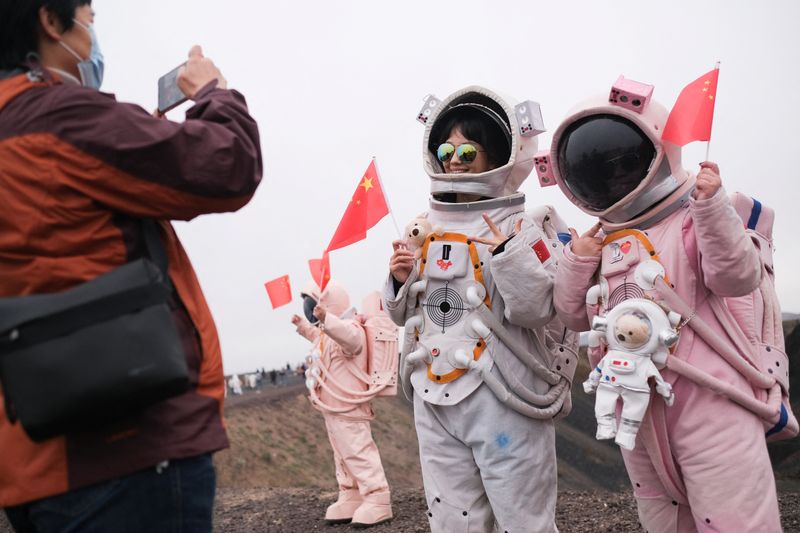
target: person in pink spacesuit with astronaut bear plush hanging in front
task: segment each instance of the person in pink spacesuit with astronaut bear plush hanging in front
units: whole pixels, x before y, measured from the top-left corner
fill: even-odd
[[[759,251],[722,188],[719,167],[706,161],[697,174],[685,170],[680,147],[661,142],[667,110],[650,101],[652,86],[637,85],[638,96],[624,102],[612,91],[581,105],[558,127],[549,153],[537,156],[542,184],[557,182],[570,201],[599,218],[580,236],[571,230],[556,276],[556,310],[568,327],[585,331],[592,303],[585,295],[598,279],[633,288],[631,295],[627,289],[603,295],[607,307],[641,296],[633,267],[619,268],[625,255],[637,253],[640,262],[660,262],[674,293],[693,310],[682,326],[698,317],[724,336],[712,300],[759,286]],[[633,245],[625,244],[631,238]],[[758,394],[692,327],[679,329],[671,357]],[[780,531],[761,418],[669,366],[661,372],[674,404],[653,395],[635,448],[622,450],[644,529]]]

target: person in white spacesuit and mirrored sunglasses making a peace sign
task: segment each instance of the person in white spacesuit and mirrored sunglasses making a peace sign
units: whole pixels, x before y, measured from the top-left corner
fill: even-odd
[[[418,257],[394,243],[384,299],[405,326],[433,532],[556,530],[553,418],[569,411],[576,357],[553,356],[544,328],[566,226],[547,207],[526,213],[518,192],[537,111],[467,87],[418,117],[433,232]]]

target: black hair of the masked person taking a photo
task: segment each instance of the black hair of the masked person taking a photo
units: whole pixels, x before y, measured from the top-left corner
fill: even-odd
[[[44,7],[69,31],[75,10],[92,0],[0,0],[0,70],[26,68],[26,58],[39,52],[39,9]]]

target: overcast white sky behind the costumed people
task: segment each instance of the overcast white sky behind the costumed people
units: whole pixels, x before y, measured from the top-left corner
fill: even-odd
[[[263,283],[310,279],[350,195],[376,156],[403,227],[426,209],[423,127],[428,93],[479,84],[541,103],[554,131],[580,100],[619,74],[655,85],[671,107],[684,85],[722,61],[711,159],[723,183],[772,206],[778,290],[800,312],[800,3],[611,1],[94,0],[106,57],[103,89],[147,109],[156,80],[201,44],[241,91],[261,129],[264,181],[237,213],[176,223],[217,322],[226,373],[293,365],[308,344],[273,311]],[[173,111],[174,120],[183,113]],[[539,138],[540,148],[550,133]],[[696,168],[705,144],[684,149]],[[523,184],[578,229],[592,220],[558,188]],[[332,252],[354,302],[378,289],[396,232],[387,217],[366,241]]]

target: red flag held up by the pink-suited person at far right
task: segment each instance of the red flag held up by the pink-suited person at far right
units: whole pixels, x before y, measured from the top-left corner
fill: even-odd
[[[684,87],[672,107],[661,139],[683,146],[711,139],[719,69],[706,72]]]

